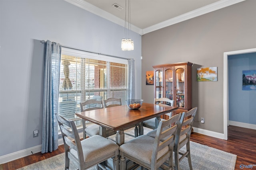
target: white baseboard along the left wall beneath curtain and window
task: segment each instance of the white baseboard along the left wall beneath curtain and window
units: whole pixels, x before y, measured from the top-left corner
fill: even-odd
[[[79,137],[82,138],[83,137],[83,133],[79,134]],[[58,140],[58,145],[62,145],[63,144],[63,140],[62,138]],[[38,153],[42,151],[42,145],[38,145],[35,147],[31,147],[28,149],[24,149],[24,150],[20,150],[18,152],[13,152],[10,154],[6,154],[4,156],[0,156],[0,164],[4,164],[6,162],[10,162],[12,160],[16,160],[19,158],[23,158],[25,156],[31,155],[32,152],[34,153]]]

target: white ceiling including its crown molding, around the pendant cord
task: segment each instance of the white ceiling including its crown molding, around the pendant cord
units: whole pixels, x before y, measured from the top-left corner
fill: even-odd
[[[125,0],[66,0],[124,26]],[[143,35],[244,0],[130,0],[132,30]],[[118,4],[118,10],[112,5]]]

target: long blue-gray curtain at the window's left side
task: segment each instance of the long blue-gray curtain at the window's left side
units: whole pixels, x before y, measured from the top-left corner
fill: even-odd
[[[58,149],[58,122],[55,114],[58,113],[60,51],[60,44],[46,41],[42,153]]]

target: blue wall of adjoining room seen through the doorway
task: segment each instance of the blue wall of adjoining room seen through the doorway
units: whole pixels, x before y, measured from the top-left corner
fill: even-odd
[[[229,120],[256,125],[256,91],[242,90],[243,70],[256,70],[256,53],[228,56]]]

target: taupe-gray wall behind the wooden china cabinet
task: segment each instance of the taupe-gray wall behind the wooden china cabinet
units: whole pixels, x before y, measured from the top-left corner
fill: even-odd
[[[256,47],[256,1],[246,0],[142,36],[142,99],[153,103],[154,87],[145,74],[152,65],[189,61],[194,127],[223,131],[223,53]],[[196,82],[196,68],[218,67],[217,82]],[[241,106],[242,107],[242,106]]]

